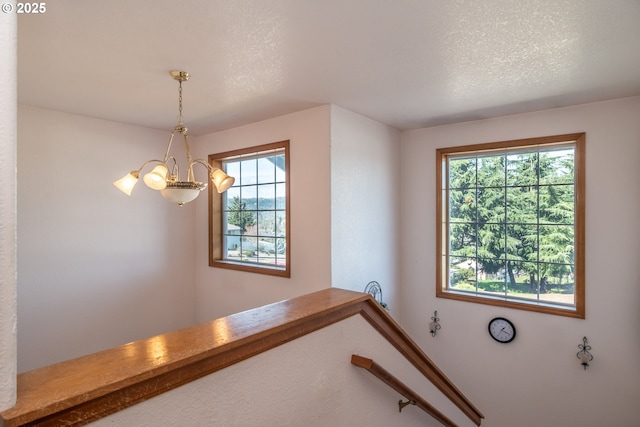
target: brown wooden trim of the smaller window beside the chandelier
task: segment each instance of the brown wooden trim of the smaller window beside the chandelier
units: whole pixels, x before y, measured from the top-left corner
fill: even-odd
[[[209,164],[213,167],[222,167],[222,162],[234,157],[249,156],[251,154],[260,154],[270,150],[283,149],[285,158],[285,194],[286,194],[286,218],[285,227],[287,252],[285,268],[271,267],[267,264],[252,264],[238,261],[223,259],[222,253],[222,230],[224,215],[222,212],[222,194],[213,190],[213,185],[209,185],[209,266],[217,268],[225,268],[229,270],[245,271],[250,273],[267,274],[279,277],[291,277],[291,192],[290,192],[290,174],[289,174],[289,141],[279,141],[270,144],[253,146],[239,150],[226,151],[222,153],[210,154],[208,157]]]

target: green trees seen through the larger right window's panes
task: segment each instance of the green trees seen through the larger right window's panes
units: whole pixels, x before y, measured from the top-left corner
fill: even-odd
[[[475,290],[477,265],[479,290],[573,293],[573,172],[567,147],[451,158],[451,285]]]

